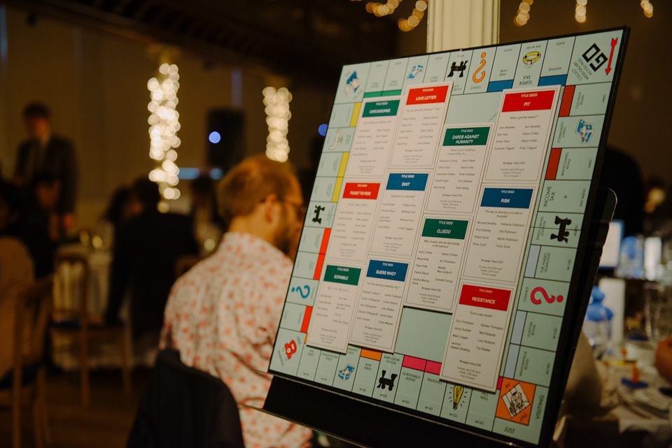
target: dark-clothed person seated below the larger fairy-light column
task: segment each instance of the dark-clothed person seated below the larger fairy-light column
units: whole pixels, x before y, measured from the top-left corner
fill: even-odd
[[[156,347],[175,263],[182,255],[198,254],[191,221],[184,215],[161,213],[158,185],[148,178],[131,187],[133,216],[115,230],[110,290],[105,321],[119,321],[119,310],[130,287],[130,321],[137,352]]]

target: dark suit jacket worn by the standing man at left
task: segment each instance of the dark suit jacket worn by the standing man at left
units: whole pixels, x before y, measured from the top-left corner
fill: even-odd
[[[52,135],[43,148],[43,156],[37,166],[34,166],[35,152],[34,140],[26,140],[19,145],[14,177],[23,178],[24,185],[31,189],[38,173],[55,175],[61,183],[56,211],[61,214],[73,212],[77,194],[77,161],[72,143],[66,138]]]

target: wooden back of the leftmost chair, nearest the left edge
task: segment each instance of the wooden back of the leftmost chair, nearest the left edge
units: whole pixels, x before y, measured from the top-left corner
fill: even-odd
[[[14,323],[15,381],[20,382],[22,367],[37,364],[43,359],[53,287],[53,275],[48,275],[27,285],[20,293]]]

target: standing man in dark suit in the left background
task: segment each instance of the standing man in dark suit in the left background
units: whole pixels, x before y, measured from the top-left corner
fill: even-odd
[[[57,182],[58,198],[54,213],[60,236],[74,225],[77,194],[77,161],[70,140],[51,131],[49,109],[41,103],[30,103],[23,110],[29,139],[19,145],[14,169],[14,183],[24,190],[28,201],[34,197],[36,180],[48,175]]]

